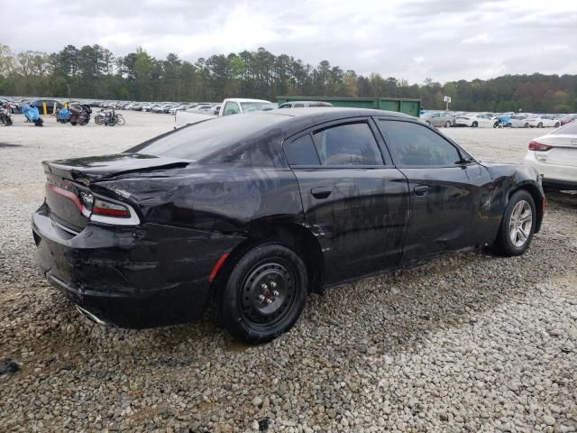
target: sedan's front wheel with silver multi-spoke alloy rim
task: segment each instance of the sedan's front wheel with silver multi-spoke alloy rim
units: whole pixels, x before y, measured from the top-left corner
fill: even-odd
[[[536,225],[536,207],[531,194],[520,189],[508,200],[497,239],[492,245],[493,253],[507,257],[527,251]]]

